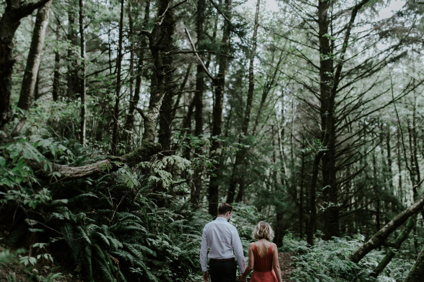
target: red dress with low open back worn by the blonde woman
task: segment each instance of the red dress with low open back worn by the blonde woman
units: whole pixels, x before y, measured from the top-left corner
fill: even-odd
[[[272,267],[271,242],[269,243],[268,253],[265,257],[261,257],[259,255],[258,250],[256,249],[256,242],[254,251],[254,269],[250,282],[277,282],[277,276],[275,275]]]

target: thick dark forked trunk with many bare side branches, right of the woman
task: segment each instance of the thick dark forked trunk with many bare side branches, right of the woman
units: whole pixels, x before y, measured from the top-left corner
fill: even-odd
[[[323,177],[323,202],[324,204],[324,240],[333,236],[340,236],[340,210],[338,207],[338,183],[336,180],[336,116],[335,98],[340,82],[340,75],[343,69],[344,56],[349,43],[350,32],[354,25],[357,12],[369,0],[362,0],[357,3],[351,12],[349,22],[346,24],[343,47],[340,50],[340,58],[334,66],[333,54],[334,44],[330,42],[329,28],[332,19],[328,17],[329,9],[332,7],[331,1],[318,1],[318,38],[320,54],[320,117],[321,117],[321,142],[319,147],[326,149],[322,156],[322,177]],[[316,183],[314,184],[316,186]],[[312,204],[312,203],[311,203]]]

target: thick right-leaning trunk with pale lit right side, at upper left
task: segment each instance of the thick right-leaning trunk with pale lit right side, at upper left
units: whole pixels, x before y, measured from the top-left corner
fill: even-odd
[[[51,2],[45,3],[45,5],[37,11],[31,46],[29,48],[24,78],[22,80],[21,94],[18,101],[18,107],[25,111],[29,110],[34,97],[35,83],[41,60],[41,51],[44,47],[46,28],[49,22],[50,4]]]

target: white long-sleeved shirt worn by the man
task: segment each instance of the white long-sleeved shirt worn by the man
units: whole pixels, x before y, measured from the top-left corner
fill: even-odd
[[[225,218],[217,217],[214,221],[207,223],[203,229],[202,246],[200,248],[202,271],[207,271],[206,253],[208,246],[210,249],[208,257],[210,259],[232,258],[235,254],[241,273],[245,271],[246,261],[237,229]]]

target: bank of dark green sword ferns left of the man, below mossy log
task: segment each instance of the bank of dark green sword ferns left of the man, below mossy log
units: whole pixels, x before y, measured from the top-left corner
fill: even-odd
[[[52,202],[47,222],[60,227],[86,281],[199,278],[201,232],[209,217],[205,212],[191,211],[178,199],[157,208],[151,200],[157,196],[148,185],[131,189],[124,176],[75,182],[53,193],[70,199]]]

